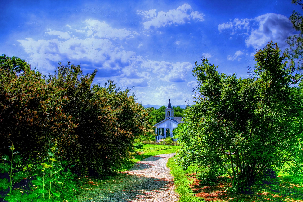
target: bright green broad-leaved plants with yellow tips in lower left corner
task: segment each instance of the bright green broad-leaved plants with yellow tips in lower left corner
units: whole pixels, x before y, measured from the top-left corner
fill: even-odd
[[[0,179],[0,190],[9,191],[5,197],[8,202],[17,201],[76,201],[75,194],[77,187],[73,181],[74,175],[70,172],[71,164],[66,161],[61,161],[58,156],[59,151],[56,148],[57,144],[53,144],[49,149],[48,155],[45,157],[45,162],[41,163],[37,169],[37,174],[33,171],[20,170],[16,165],[20,164],[22,157],[18,152],[14,152],[14,145],[9,147],[11,157],[8,155],[2,156],[4,161],[8,163],[0,164],[2,173],[7,172],[8,177]],[[69,166],[69,167],[67,167]],[[35,176],[35,178],[33,178]],[[15,186],[24,179],[32,179],[31,185],[34,187]],[[20,191],[21,189],[21,191]],[[26,192],[27,194],[22,194]]]

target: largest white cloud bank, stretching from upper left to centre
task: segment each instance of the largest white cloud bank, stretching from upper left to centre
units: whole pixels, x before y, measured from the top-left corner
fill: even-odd
[[[49,39],[25,38],[17,41],[29,54],[30,63],[39,63],[42,74],[52,73],[59,61],[72,61],[88,71],[98,69],[100,81],[111,78],[122,87],[148,87],[152,80],[170,83],[186,81],[191,63],[146,60],[121,46],[135,32],[112,28],[105,22],[95,20],[82,23],[84,26],[80,30],[66,26],[66,32],[48,31]]]

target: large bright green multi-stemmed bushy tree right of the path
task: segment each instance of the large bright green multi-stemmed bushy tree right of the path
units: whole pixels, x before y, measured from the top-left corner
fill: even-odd
[[[206,58],[195,63],[196,104],[177,128],[183,145],[177,161],[184,169],[195,162],[213,175],[223,170],[235,192],[249,191],[256,177],[285,163],[301,169],[302,108],[298,89],[290,87],[298,75],[285,58],[269,43],[244,79],[219,74]]]

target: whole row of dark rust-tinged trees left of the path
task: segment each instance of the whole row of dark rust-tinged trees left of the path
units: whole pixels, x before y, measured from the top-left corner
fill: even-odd
[[[59,63],[42,76],[18,57],[0,56],[0,156],[14,144],[22,169],[42,162],[51,144],[79,175],[105,175],[128,159],[140,135],[153,132],[130,89],[109,80],[92,85],[96,70]]]

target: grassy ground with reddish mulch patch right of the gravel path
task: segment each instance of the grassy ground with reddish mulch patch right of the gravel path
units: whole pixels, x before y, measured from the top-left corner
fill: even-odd
[[[299,177],[288,175],[258,180],[251,187],[252,194],[232,194],[226,191],[230,186],[227,177],[218,178],[218,181],[211,185],[203,185],[195,176],[195,167],[183,171],[175,164],[173,158],[169,159],[167,165],[175,177],[176,191],[181,195],[179,202],[303,202],[303,180]]]

